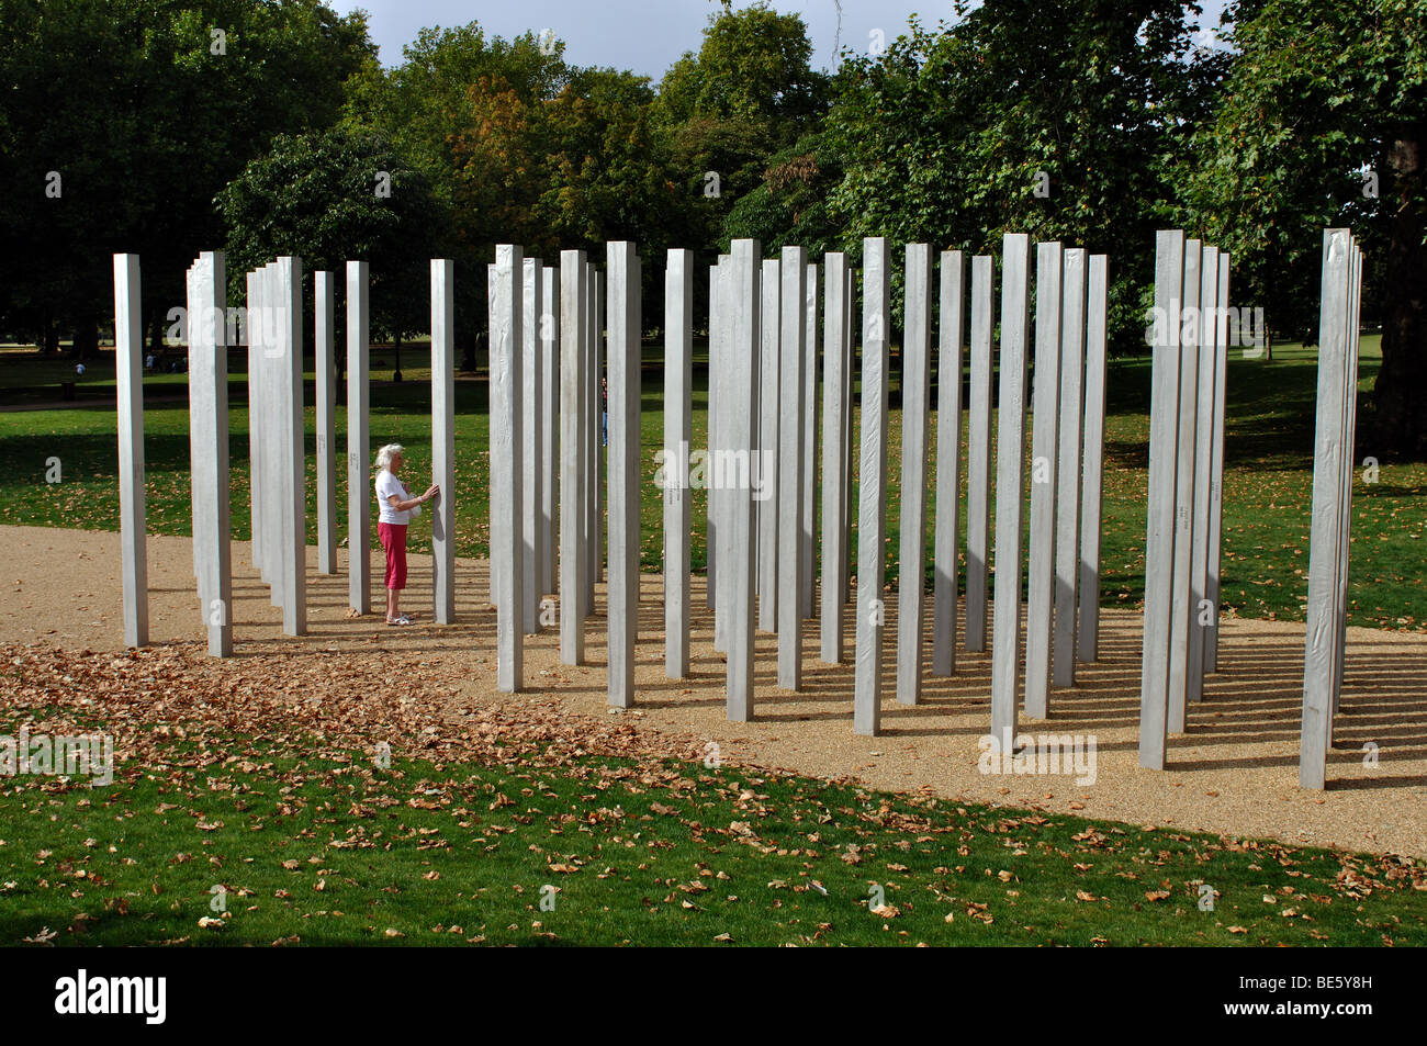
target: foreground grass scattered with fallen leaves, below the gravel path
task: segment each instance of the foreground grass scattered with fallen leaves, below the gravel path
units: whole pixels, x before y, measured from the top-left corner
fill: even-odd
[[[0,825],[7,946],[1427,943],[1394,858],[675,761],[378,769],[208,735],[104,788],[6,782]]]

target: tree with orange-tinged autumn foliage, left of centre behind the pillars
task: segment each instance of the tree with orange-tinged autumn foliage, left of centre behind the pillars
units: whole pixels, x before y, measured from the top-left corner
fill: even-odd
[[[485,327],[485,265],[498,243],[551,264],[561,248],[602,251],[608,240],[635,240],[646,257],[686,243],[688,208],[648,80],[575,68],[562,54],[552,37],[505,41],[471,23],[422,30],[401,66],[368,67],[348,86],[345,124],[388,134],[450,208],[462,340]],[[654,268],[646,274],[655,288]]]

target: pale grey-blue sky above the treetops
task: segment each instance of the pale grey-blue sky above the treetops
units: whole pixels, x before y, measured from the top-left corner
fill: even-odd
[[[1073,1],[1073,0],[1072,0]],[[1217,26],[1226,0],[1203,0],[1203,26]],[[696,51],[716,0],[328,0],[338,11],[364,9],[381,61],[401,61],[402,44],[424,26],[464,26],[478,21],[489,36],[517,37],[554,30],[565,41],[574,66],[612,66],[659,80],[685,51]],[[1053,11],[1059,0],[1047,0]],[[735,0],[735,7],[742,7]],[[828,68],[841,40],[843,47],[868,50],[873,33],[886,40],[906,29],[912,14],[930,29],[952,21],[950,0],[773,0],[782,13],[801,14],[813,43],[813,66]],[[841,7],[841,36],[839,36]]]

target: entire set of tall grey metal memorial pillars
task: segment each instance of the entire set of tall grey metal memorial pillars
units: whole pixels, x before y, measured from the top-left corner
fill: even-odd
[[[584,251],[564,251],[557,268],[524,258],[519,247],[501,245],[489,267],[491,584],[501,689],[522,685],[522,635],[539,629],[544,594],[559,594],[562,661],[584,661],[584,621],[594,612],[602,567],[601,378],[608,375],[609,702],[628,706],[634,702],[639,595],[641,263],[629,243],[608,244],[605,261],[601,274]],[[1107,275],[1104,255],[1039,244],[1032,327],[1029,237],[1005,237],[1000,268],[997,367],[992,351],[993,258],[977,255],[970,264],[963,641],[968,651],[986,649],[992,384],[999,370],[992,731],[1009,736],[1022,696],[1027,407],[1035,420],[1023,689],[1027,715],[1045,718],[1052,684],[1073,685],[1076,661],[1097,655]],[[1164,766],[1166,735],[1184,729],[1187,706],[1203,696],[1204,674],[1217,668],[1229,273],[1227,253],[1213,244],[1186,241],[1179,230],[1159,234],[1140,696],[1140,763],[1157,769]],[[367,264],[348,263],[345,275],[350,596],[351,606],[365,614],[371,611]],[[689,669],[692,518],[686,479],[694,275],[692,251],[671,250],[662,498],[665,665],[672,678]],[[865,240],[853,726],[869,735],[879,731],[882,696],[890,277],[886,240]],[[940,254],[940,424],[930,498],[932,254],[926,244],[906,247],[903,277],[896,694],[900,702],[916,704],[923,665],[922,535],[929,499],[935,511],[932,672],[948,675],[956,664],[960,377],[968,311],[963,254]],[[432,478],[442,494],[432,539],[435,619],[441,624],[452,619],[455,604],[452,281],[454,264],[434,260]],[[283,608],[284,631],[301,635],[301,261],[278,258],[250,273],[247,287],[253,559],[273,587],[274,605]],[[223,254],[201,254],[187,274],[194,574],[208,649],[215,656],[233,649],[224,288]],[[808,261],[803,248],[783,248],[781,257],[765,260],[756,241],[738,240],[711,268],[709,288],[714,464],[708,475],[715,481],[708,498],[708,592],[716,616],[715,645],[728,654],[728,715],[742,721],[753,716],[755,625],[778,634],[778,682],[783,688],[801,686],[802,622],[815,608],[822,619],[822,659],[843,659],[843,614],[850,595],[856,273],[839,253],[828,254],[819,267]],[[137,646],[148,638],[137,255],[114,257],[114,293],[124,638]],[[331,574],[337,569],[332,274],[315,274],[314,297],[318,569]],[[1310,788],[1323,786],[1341,692],[1360,298],[1361,251],[1349,230],[1327,230],[1300,758],[1300,781]],[[602,352],[606,331],[608,361]],[[1027,395],[1032,335],[1033,401]],[[813,577],[819,394],[821,602]]]

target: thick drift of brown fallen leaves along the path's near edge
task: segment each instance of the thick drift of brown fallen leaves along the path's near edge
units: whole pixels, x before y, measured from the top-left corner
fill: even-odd
[[[21,716],[31,733],[111,733],[118,763],[161,765],[170,742],[184,741],[190,769],[254,769],[233,755],[233,738],[267,745],[274,758],[313,755],[315,742],[337,763],[358,749],[375,756],[378,745],[437,766],[568,766],[595,755],[635,759],[648,772],[662,758],[702,753],[696,738],[639,733],[629,721],[584,716],[555,699],[472,704],[462,668],[417,655],[274,649],[215,662],[200,644],[117,656],[0,644],[0,712]],[[378,678],[402,679],[400,696],[374,685]]]

